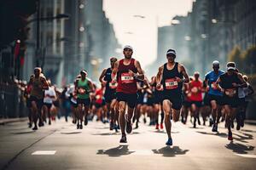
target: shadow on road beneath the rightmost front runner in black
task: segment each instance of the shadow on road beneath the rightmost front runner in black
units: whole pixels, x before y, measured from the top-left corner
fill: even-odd
[[[247,151],[254,150],[254,146],[245,145],[245,144],[238,144],[230,142],[230,144],[226,144],[225,147],[229,150],[233,150],[237,154],[247,154]]]

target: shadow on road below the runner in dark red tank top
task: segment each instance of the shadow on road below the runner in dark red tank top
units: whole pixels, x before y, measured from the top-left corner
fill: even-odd
[[[119,145],[109,150],[98,150],[97,155],[108,155],[112,157],[127,156],[135,151],[129,151],[128,145]]]

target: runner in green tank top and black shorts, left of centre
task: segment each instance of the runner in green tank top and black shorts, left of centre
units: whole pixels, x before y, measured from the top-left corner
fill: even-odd
[[[75,82],[76,92],[78,94],[78,105],[79,105],[79,121],[77,127],[83,128],[83,117],[84,117],[84,126],[87,125],[88,111],[90,106],[90,92],[94,91],[92,82],[87,78],[87,71],[80,71],[81,78],[77,79]]]

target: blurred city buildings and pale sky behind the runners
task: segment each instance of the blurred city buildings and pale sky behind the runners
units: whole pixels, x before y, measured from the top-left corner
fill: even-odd
[[[59,88],[81,69],[97,82],[110,57],[122,58],[125,44],[148,77],[173,48],[189,75],[200,71],[203,79],[213,60],[222,70],[235,61],[255,89],[255,20],[254,0],[2,0],[1,111],[20,116],[18,106],[7,104],[19,105],[15,84],[28,80],[35,66]]]

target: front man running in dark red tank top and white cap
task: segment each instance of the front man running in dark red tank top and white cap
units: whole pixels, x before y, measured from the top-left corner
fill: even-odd
[[[124,47],[123,54],[125,59],[120,59],[114,63],[112,71],[112,80],[117,75],[118,87],[116,97],[119,101],[119,125],[121,127],[122,137],[120,143],[126,143],[126,133],[131,133],[131,118],[137,103],[137,80],[144,79],[143,70],[139,61],[131,58],[133,49],[131,46]],[[128,105],[128,114],[125,115],[126,105]]]

